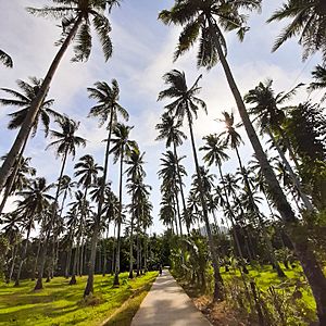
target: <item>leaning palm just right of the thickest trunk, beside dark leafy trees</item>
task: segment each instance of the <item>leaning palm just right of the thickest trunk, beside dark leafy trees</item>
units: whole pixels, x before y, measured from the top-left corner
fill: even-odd
[[[302,190],[302,186],[300,180],[298,179],[296,173],[293,172],[291,165],[289,164],[288,160],[285,156],[284,151],[280,148],[279,141],[274,136],[275,131],[278,133],[289,151],[291,159],[296,163],[297,168],[299,170],[299,163],[296,159],[296,154],[292,150],[290,141],[281,127],[281,124],[285,122],[285,113],[281,109],[278,109],[277,105],[284,103],[286,100],[289,100],[291,96],[296,93],[296,90],[300,84],[290,90],[287,93],[279,92],[274,96],[274,90],[272,89],[273,80],[266,80],[265,85],[260,83],[254,89],[249,90],[249,92],[244,96],[244,101],[247,103],[255,104],[254,108],[251,108],[249,113],[255,115],[259,118],[259,125],[262,131],[266,131],[266,134],[272,139],[278,154],[280,155],[283,163],[289,171],[289,174],[292,178],[293,185],[296,185],[298,191],[300,192],[300,197],[304,202],[305,208],[309,211],[313,211],[313,205],[310,202],[308,196]]]

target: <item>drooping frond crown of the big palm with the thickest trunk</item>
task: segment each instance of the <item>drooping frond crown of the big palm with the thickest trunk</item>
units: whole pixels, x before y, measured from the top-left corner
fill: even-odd
[[[159,18],[164,24],[175,24],[184,27],[174,58],[178,59],[199,41],[198,66],[213,67],[220,60],[218,46],[227,52],[226,40],[222,30],[237,30],[240,40],[249,29],[246,26],[244,10],[259,10],[261,0],[177,0],[171,10],[163,10]]]

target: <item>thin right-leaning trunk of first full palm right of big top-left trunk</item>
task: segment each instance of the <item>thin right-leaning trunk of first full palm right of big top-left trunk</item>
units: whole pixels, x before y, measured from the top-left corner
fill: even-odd
[[[57,214],[58,198],[59,198],[61,180],[62,180],[62,176],[63,176],[63,172],[64,172],[64,167],[65,167],[65,163],[66,163],[66,159],[67,159],[67,150],[68,149],[66,148],[66,150],[64,152],[64,155],[63,155],[62,166],[61,166],[59,181],[58,181],[58,188],[57,188],[55,198],[54,198],[54,202],[53,202],[53,209],[52,209],[50,221],[49,221],[49,227],[48,227],[48,230],[46,233],[45,241],[43,241],[43,244],[42,244],[41,251],[40,251],[40,262],[39,262],[39,267],[38,267],[38,276],[37,276],[37,281],[36,281],[34,290],[40,290],[40,289],[43,288],[42,277],[43,277],[45,265],[46,265],[46,255],[47,255],[48,242],[50,240],[50,236],[51,236],[51,231],[52,231],[52,228],[53,228],[53,223],[54,223],[54,218],[55,218],[55,214]]]

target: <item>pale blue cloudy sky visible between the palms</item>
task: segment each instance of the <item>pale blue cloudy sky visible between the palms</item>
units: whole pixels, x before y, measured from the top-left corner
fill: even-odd
[[[284,24],[266,24],[266,20],[273,11],[281,5],[283,1],[263,1],[262,13],[252,13],[249,20],[250,30],[244,41],[239,42],[235,34],[228,34],[228,62],[238,84],[241,95],[254,88],[259,82],[267,78],[274,80],[276,92],[289,91],[299,83],[310,83],[313,66],[319,63],[319,57],[315,55],[305,62],[301,60],[301,48],[296,40],[289,40],[277,52],[271,49],[276,36]],[[0,87],[17,90],[17,79],[27,80],[28,76],[41,78],[58,51],[54,42],[60,38],[60,22],[35,17],[28,14],[26,7],[41,8],[50,4],[45,0],[0,0],[0,48],[10,53],[14,60],[14,68],[0,66]],[[73,52],[70,49],[65,54],[53,78],[49,97],[54,99],[53,109],[67,114],[80,122],[78,136],[87,139],[86,149],[78,149],[74,161],[70,160],[65,173],[73,173],[73,166],[78,158],[86,153],[95,156],[99,164],[103,164],[105,138],[104,127],[98,127],[96,118],[87,117],[95,102],[88,99],[86,88],[96,82],[111,83],[117,79],[121,88],[120,103],[127,109],[130,118],[128,125],[135,126],[130,138],[137,140],[140,150],[145,151],[146,183],[152,186],[151,201],[153,203],[153,226],[151,233],[162,233],[164,227],[159,221],[160,211],[160,168],[161,153],[165,151],[164,141],[155,141],[158,136],[155,125],[160,122],[164,102],[158,102],[158,93],[165,88],[162,76],[177,68],[185,71],[188,85],[191,85],[199,74],[203,74],[200,80],[202,91],[200,98],[208,104],[208,115],[199,114],[195,122],[195,135],[197,146],[203,145],[202,137],[212,133],[223,131],[223,125],[216,122],[222,117],[221,112],[234,110],[237,121],[234,98],[228,89],[224,73],[220,65],[210,72],[198,71],[196,67],[196,49],[189,51],[177,62],[173,63],[179,29],[174,26],[165,26],[158,21],[158,14],[163,9],[170,9],[172,0],[124,0],[120,8],[115,8],[111,15],[111,39],[113,42],[113,55],[105,63],[99,42],[93,36],[93,47],[90,59],[86,63],[72,63]],[[1,97],[5,97],[0,91]],[[293,99],[292,103],[305,101],[309,95],[303,88]],[[312,95],[315,100],[318,93]],[[166,104],[166,102],[165,102]],[[0,155],[5,154],[15,136],[16,130],[8,130],[8,113],[13,108],[0,108]],[[58,129],[51,124],[52,129]],[[185,129],[188,135],[188,130]],[[240,131],[246,146],[241,146],[240,154],[244,161],[250,160],[252,149],[246,139],[243,130]],[[189,136],[189,135],[188,135]],[[49,183],[55,181],[59,176],[60,159],[57,159],[52,150],[47,150],[51,139],[43,137],[43,131],[38,130],[35,138],[28,141],[25,155],[32,158],[32,165],[37,168],[37,176],[45,176]],[[180,155],[187,155],[184,164],[188,172],[185,180],[187,188],[195,172],[191,149],[188,140],[179,149]],[[231,160],[223,166],[225,172],[235,172],[237,161],[235,153],[228,152]],[[202,154],[200,154],[202,155]],[[212,173],[216,173],[214,168]],[[110,164],[109,178],[112,189],[117,193],[118,171],[117,166]],[[186,190],[186,192],[188,189]],[[14,208],[12,198],[5,210]],[[125,196],[124,202],[129,199]]]

